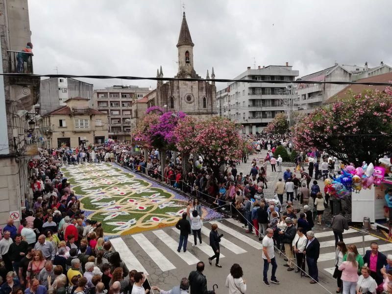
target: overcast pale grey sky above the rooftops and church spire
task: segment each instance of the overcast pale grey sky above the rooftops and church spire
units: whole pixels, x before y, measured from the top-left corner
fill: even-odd
[[[392,66],[391,0],[184,0],[196,73],[234,78],[247,66],[300,76],[334,62]],[[180,0],[28,0],[34,73],[177,73]],[[154,81],[86,80],[95,89]],[[218,90],[224,84],[217,85]]]

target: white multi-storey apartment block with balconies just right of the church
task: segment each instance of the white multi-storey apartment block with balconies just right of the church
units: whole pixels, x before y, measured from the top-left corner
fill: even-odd
[[[258,69],[248,67],[234,79],[251,79],[259,82],[227,83],[227,88],[217,92],[219,115],[242,124],[242,133],[261,132],[276,114],[288,110],[287,101],[293,99],[293,93],[287,86],[292,86],[291,82],[298,74],[299,72],[293,70],[288,62],[283,66],[259,66]],[[285,83],[274,84],[270,81]]]

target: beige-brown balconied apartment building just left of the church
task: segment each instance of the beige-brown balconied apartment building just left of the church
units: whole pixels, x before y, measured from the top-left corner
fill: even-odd
[[[108,115],[109,138],[119,141],[131,140],[132,102],[146,96],[151,90],[138,86],[112,86],[94,90],[93,104]]]

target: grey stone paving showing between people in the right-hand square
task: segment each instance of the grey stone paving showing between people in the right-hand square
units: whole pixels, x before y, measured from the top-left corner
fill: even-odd
[[[252,160],[256,159],[257,160],[257,166],[260,167],[261,164],[259,163],[259,159],[261,158],[265,158],[267,156],[267,151],[266,150],[261,150],[261,152],[257,153],[257,154],[252,154],[249,155],[249,159],[246,161],[246,163],[241,163],[240,165],[237,166],[237,171],[238,173],[243,172],[244,175],[249,174],[250,169],[251,169],[251,165],[252,165]],[[271,196],[273,196],[275,194],[274,189],[275,189],[275,184],[276,182],[278,182],[279,177],[283,178],[283,172],[286,171],[286,169],[289,168],[291,170],[291,172],[294,173],[294,169],[295,167],[287,167],[287,166],[282,166],[282,172],[272,172],[271,171],[271,165],[270,163],[267,164],[267,180],[268,180],[268,188],[264,189],[264,196],[266,198],[270,198]],[[277,167],[276,167],[277,170]],[[305,167],[305,171],[307,171],[307,167]],[[295,175],[299,178],[300,174],[299,172],[295,172]],[[309,184],[309,187],[312,186],[315,174],[313,173],[313,178],[312,181]],[[324,192],[324,181],[318,180],[317,181],[320,187],[321,192]],[[323,193],[324,195],[324,193]],[[283,196],[284,201],[286,201],[286,196]],[[344,209],[345,207],[345,201],[342,200],[342,206],[343,206],[343,210],[345,210],[345,217],[347,218],[348,221],[351,221],[351,210],[348,209]],[[285,205],[285,203],[283,203]],[[294,199],[294,209],[299,209],[301,211],[303,211],[302,205],[299,203],[298,200]],[[311,207],[311,209],[313,210],[313,203],[312,201],[310,201],[309,206]],[[350,205],[351,206],[351,205]],[[322,216],[322,221],[321,221],[321,226],[318,225],[317,223],[315,224],[315,229],[325,229],[325,226],[330,226],[331,224],[331,220],[332,220],[332,215],[331,215],[331,208],[328,205],[328,207],[324,210],[324,214]],[[316,221],[317,222],[317,221]]]

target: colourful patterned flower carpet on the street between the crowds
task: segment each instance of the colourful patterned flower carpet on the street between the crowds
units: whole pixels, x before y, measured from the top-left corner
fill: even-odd
[[[85,217],[102,222],[107,235],[172,226],[186,211],[188,198],[115,164],[79,164],[62,171]],[[203,220],[221,217],[203,206]]]

